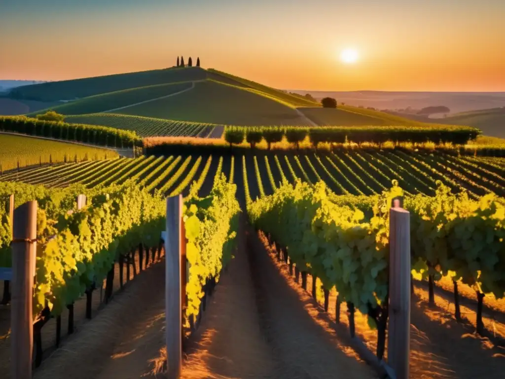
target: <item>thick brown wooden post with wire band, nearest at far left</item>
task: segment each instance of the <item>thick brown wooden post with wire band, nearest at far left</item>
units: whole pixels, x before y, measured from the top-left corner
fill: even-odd
[[[11,377],[30,378],[33,351],[33,276],[37,238],[37,202],[14,211],[12,240]]]

